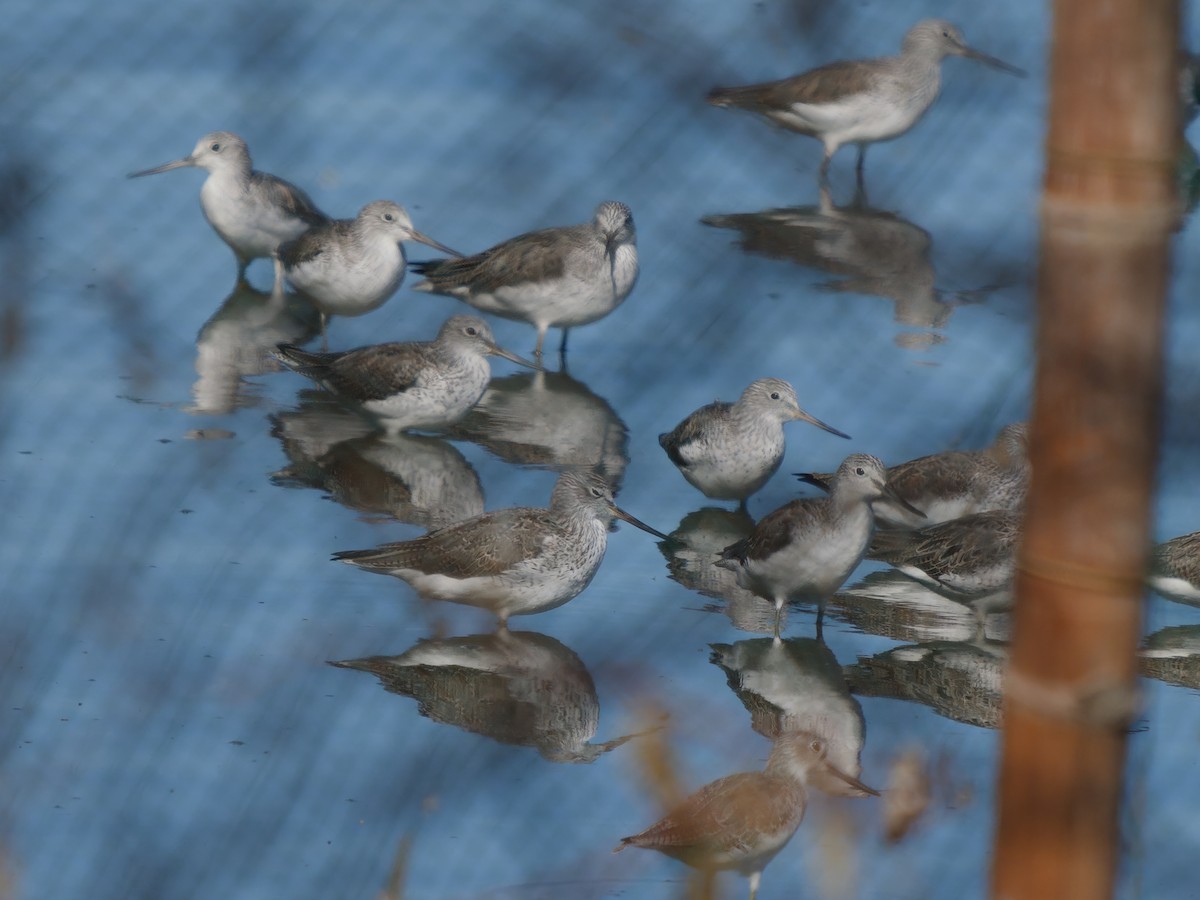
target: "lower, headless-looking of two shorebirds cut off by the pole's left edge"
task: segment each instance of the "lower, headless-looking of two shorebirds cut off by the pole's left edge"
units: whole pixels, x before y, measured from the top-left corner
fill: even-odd
[[[917,530],[881,530],[868,556],[905,575],[958,595],[1007,588],[1016,568],[1021,514],[977,512]]]

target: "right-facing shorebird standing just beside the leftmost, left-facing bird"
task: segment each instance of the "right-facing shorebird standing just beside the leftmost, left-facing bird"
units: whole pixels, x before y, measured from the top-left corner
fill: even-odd
[[[361,316],[384,304],[404,280],[402,241],[420,241],[450,256],[450,247],[413,228],[403,206],[368,203],[354,218],[317,226],[275,251],[275,289],[284,280],[320,311],[320,334],[330,316]]]

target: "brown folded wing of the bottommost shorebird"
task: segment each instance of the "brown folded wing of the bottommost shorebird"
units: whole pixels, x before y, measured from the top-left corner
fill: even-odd
[[[794,788],[758,772],[726,775],[704,785],[660,821],[623,845],[649,847],[702,864],[710,853],[748,850],[763,833],[797,828],[804,815]]]

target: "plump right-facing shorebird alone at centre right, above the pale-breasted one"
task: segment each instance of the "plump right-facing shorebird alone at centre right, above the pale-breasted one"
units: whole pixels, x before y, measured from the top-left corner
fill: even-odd
[[[745,502],[779,469],[784,422],[796,419],[850,437],[800,409],[787,382],[761,378],[736,403],[716,401],[701,407],[673,431],[659,434],[659,444],[706,497]]]

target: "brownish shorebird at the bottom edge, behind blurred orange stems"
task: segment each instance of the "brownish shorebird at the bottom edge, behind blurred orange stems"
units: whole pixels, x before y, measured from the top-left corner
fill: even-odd
[[[644,832],[622,838],[613,852],[646,847],[702,870],[733,869],[750,878],[754,900],[762,870],[804,820],[805,785],[818,773],[841,780],[857,796],[878,796],[836,769],[820,738],[784,734],[763,772],[740,772],[704,785]]]

